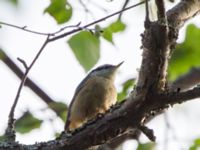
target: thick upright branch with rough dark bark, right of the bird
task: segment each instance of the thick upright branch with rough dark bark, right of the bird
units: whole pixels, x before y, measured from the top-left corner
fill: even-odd
[[[156,4],[158,21],[149,22],[142,36],[143,58],[137,83],[137,94],[146,94],[149,91],[159,92],[165,89],[170,51],[169,30],[166,24],[164,2],[156,1]],[[149,17],[146,16],[146,18]]]

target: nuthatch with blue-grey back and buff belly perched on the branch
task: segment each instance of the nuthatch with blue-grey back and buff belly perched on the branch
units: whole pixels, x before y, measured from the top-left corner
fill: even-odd
[[[118,65],[102,65],[92,70],[75,90],[69,105],[65,130],[81,127],[97,114],[104,113],[117,101],[114,79]]]

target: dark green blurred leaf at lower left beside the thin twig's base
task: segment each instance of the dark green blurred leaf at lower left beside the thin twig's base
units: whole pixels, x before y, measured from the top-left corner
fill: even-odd
[[[35,118],[29,111],[26,111],[15,123],[15,129],[17,132],[24,134],[33,129],[39,128],[42,124],[42,120]]]

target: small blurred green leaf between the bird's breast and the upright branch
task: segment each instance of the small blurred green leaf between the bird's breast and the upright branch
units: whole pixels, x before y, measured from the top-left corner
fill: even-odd
[[[135,79],[128,79],[122,84],[122,90],[117,95],[118,102],[123,101],[128,94],[133,90]]]

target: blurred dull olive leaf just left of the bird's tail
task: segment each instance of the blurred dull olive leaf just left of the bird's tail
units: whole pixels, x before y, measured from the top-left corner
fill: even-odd
[[[54,102],[50,103],[49,107],[58,112],[59,117],[65,121],[66,120],[66,111],[67,111],[67,105],[62,102]]]

